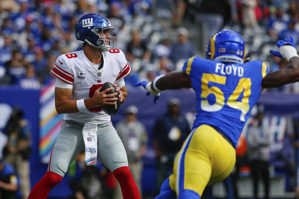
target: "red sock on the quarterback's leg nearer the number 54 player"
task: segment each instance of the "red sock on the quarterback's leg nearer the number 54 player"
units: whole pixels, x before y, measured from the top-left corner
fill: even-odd
[[[121,185],[121,192],[124,199],[140,199],[140,193],[129,167],[120,167],[112,173]]]

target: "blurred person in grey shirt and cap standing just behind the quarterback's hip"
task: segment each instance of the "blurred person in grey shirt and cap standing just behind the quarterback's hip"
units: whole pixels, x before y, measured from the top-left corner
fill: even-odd
[[[134,105],[128,106],[125,109],[125,119],[117,123],[115,129],[125,146],[129,168],[142,196],[141,174],[143,164],[141,159],[146,151],[148,136],[144,124],[137,120],[137,115],[138,108]],[[116,187],[114,198],[123,199],[119,184]]]

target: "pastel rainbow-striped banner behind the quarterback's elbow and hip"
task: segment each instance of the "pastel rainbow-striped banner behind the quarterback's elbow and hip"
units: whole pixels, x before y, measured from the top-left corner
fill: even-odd
[[[46,86],[40,92],[40,135],[39,158],[41,163],[48,164],[52,147],[58,136],[64,114],[55,110],[55,83]]]

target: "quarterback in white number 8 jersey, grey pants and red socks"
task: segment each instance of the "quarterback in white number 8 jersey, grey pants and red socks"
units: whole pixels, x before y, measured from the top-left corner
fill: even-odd
[[[128,168],[126,150],[114,129],[104,104],[115,105],[117,93],[112,88],[99,92],[105,82],[119,91],[121,103],[127,96],[124,77],[131,68],[122,51],[114,49],[116,37],[107,17],[89,13],[78,19],[75,36],[83,50],[60,55],[51,70],[57,78],[55,108],[64,120],[53,146],[48,170],[33,187],[29,199],[44,199],[67,172],[77,154],[85,150],[85,163],[96,165],[97,157],[110,169],[124,199],[140,199],[138,188]]]

